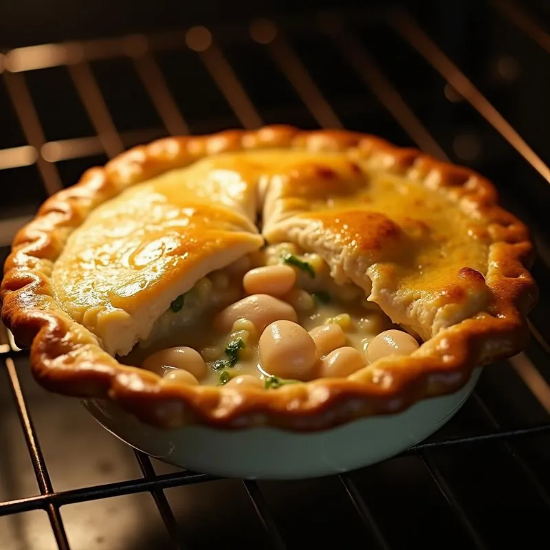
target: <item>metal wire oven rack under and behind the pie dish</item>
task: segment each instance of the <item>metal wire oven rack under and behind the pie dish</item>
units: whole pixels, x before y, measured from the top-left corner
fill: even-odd
[[[538,25],[536,19],[527,10],[520,7],[518,2],[494,1],[489,3],[489,10],[515,25],[519,32],[525,34],[529,40],[536,44],[536,47],[540,47],[547,54],[550,53],[550,34],[545,32]],[[475,78],[466,76],[461,67],[445,54],[437,41],[430,38],[430,35],[423,30],[412,15],[401,8],[322,12],[308,14],[284,23],[259,19],[250,24],[218,25],[212,28],[199,26],[179,32],[39,45],[3,52],[0,54],[0,77],[3,79],[7,97],[17,116],[25,141],[23,144],[0,150],[0,179],[2,170],[12,171],[25,166],[35,166],[45,194],[51,195],[63,188],[64,184],[70,183],[66,179],[64,181],[58,169],[59,163],[88,158],[93,162],[97,155],[113,157],[133,144],[146,142],[162,135],[216,131],[235,124],[244,128],[254,128],[272,118],[281,120],[281,122],[294,122],[294,120],[300,120],[303,112],[307,113],[306,118],[309,122],[306,124],[310,124],[311,127],[340,128],[344,125],[349,126],[344,122],[345,117],[340,113],[347,112],[347,109],[352,113],[357,111],[360,107],[360,100],[355,101],[355,104],[353,100],[350,100],[349,105],[346,105],[344,101],[344,105],[339,104],[338,110],[333,107],[333,100],[329,99],[328,93],[325,94],[322,85],[309,70],[307,61],[294,47],[296,36],[303,39],[309,35],[316,38],[320,36],[323,41],[331,43],[331,47],[340,52],[342,63],[347,64],[349,71],[364,85],[365,94],[372,94],[378,102],[377,109],[393,119],[403,135],[406,135],[409,144],[418,146],[441,159],[450,157],[454,159],[458,155],[456,151],[461,151],[456,140],[453,142],[454,148],[452,148],[434,137],[434,134],[428,129],[428,124],[423,122],[421,115],[417,114],[415,108],[412,107],[412,103],[416,104],[416,99],[408,100],[408,96],[401,91],[403,85],[394,83],[393,78],[388,76],[382,68],[383,64],[377,61],[377,56],[369,51],[364,45],[364,41],[360,39],[361,30],[369,28],[370,25],[379,25],[386,32],[395,34],[406,47],[416,52],[419,58],[441,77],[448,101],[461,102],[465,109],[481,115],[485,121],[483,124],[503,138],[509,148],[509,154],[522,158],[526,170],[531,172],[531,181],[534,182],[531,184],[532,192],[545,192],[545,186],[550,183],[550,168],[547,162],[544,162],[519,131],[480,91],[475,84]],[[286,111],[285,109],[263,109],[252,100],[243,78],[239,76],[239,72],[236,71],[234,64],[226,54],[226,49],[232,45],[247,47],[249,43],[254,43],[255,47],[263,49],[267,58],[286,79],[287,85],[301,102],[300,108],[295,111],[292,109]],[[192,124],[188,122],[177,102],[177,94],[171,89],[158,61],[159,56],[166,52],[179,51],[185,51],[187,55],[195,56],[197,62],[210,77],[213,87],[217,87],[218,93],[228,104],[229,114],[227,116],[222,115],[219,118],[211,119],[201,118]],[[161,125],[142,129],[120,129],[115,122],[115,116],[109,107],[99,78],[92,68],[93,64],[98,61],[111,59],[124,59],[133,67],[144,93],[148,96],[162,123]],[[32,78],[33,72],[55,67],[63,67],[67,71],[69,81],[74,86],[83,111],[91,122],[93,134],[56,140],[48,137],[48,132],[36,107],[36,96],[30,86],[30,78]],[[475,143],[463,144],[463,148],[466,150],[463,158],[466,161],[474,157],[473,153],[467,153],[472,150],[472,147],[475,151]],[[469,154],[470,157],[468,157]],[[518,208],[520,207],[518,206]],[[523,210],[520,212],[523,213]],[[28,219],[29,214],[30,212],[25,212],[23,215],[10,215],[0,221],[0,233],[5,239],[3,245],[9,242],[14,230]],[[550,254],[548,253],[550,243],[545,239],[544,231],[538,229],[540,225],[536,223],[536,213],[533,214],[533,219],[533,235],[540,251],[536,269],[538,274],[544,275],[548,273],[550,265]],[[545,300],[544,294],[542,299]],[[533,399],[540,405],[541,410],[544,410],[544,416],[540,422],[528,423],[515,428],[503,427],[494,415],[492,407],[487,404],[485,397],[476,392],[472,399],[476,401],[480,410],[483,410],[485,421],[491,426],[490,430],[432,438],[405,453],[405,455],[417,456],[423,463],[423,467],[426,468],[430,478],[437,485],[443,499],[448,503],[452,514],[463,529],[465,537],[474,548],[489,548],[489,543],[474,525],[468,509],[461,503],[461,499],[446,480],[437,462],[434,461],[433,453],[438,450],[452,450],[465,445],[503,443],[506,452],[516,463],[518,470],[522,472],[525,483],[533,487],[546,509],[547,518],[550,518],[549,486],[540,481],[537,472],[531,468],[529,460],[525,459],[518,450],[518,442],[526,439],[537,441],[537,438],[540,438],[541,442],[550,441],[548,439],[550,417],[547,416],[550,412],[550,367],[548,361],[550,347],[547,343],[549,332],[544,325],[542,314],[537,314],[531,319],[531,331],[533,333],[531,347],[526,353],[520,353],[520,355],[511,358],[509,365],[517,377],[518,384],[524,384],[531,392]],[[27,352],[20,350],[14,344],[11,335],[5,329],[3,329],[0,342],[0,355],[5,364],[14,403],[17,406],[17,413],[21,420],[21,427],[39,485],[39,494],[0,502],[0,515],[18,514],[38,509],[45,510],[58,548],[68,550],[72,546],[65,531],[65,524],[60,512],[61,507],[112,496],[149,492],[153,496],[159,514],[170,534],[173,547],[186,547],[183,542],[185,536],[177,525],[173,511],[164,495],[164,489],[195,483],[216,483],[216,478],[186,471],[157,474],[148,456],[136,451],[135,458],[142,477],[56,491],[50,481],[50,474],[41,451],[39,434],[34,428],[28,403],[25,400],[25,392],[21,387],[17,372],[16,364],[20,358],[26,357]],[[495,368],[498,369],[498,367]],[[358,488],[353,475],[342,474],[339,476],[339,480],[342,489],[351,499],[363,528],[369,532],[369,536],[375,542],[375,547],[393,548],[390,537],[377,524],[371,507],[366,503],[364,493]],[[278,522],[264,498],[259,484],[254,481],[243,481],[242,483],[252,501],[259,521],[265,529],[269,547],[274,549],[289,547],[290,545],[281,533]]]

